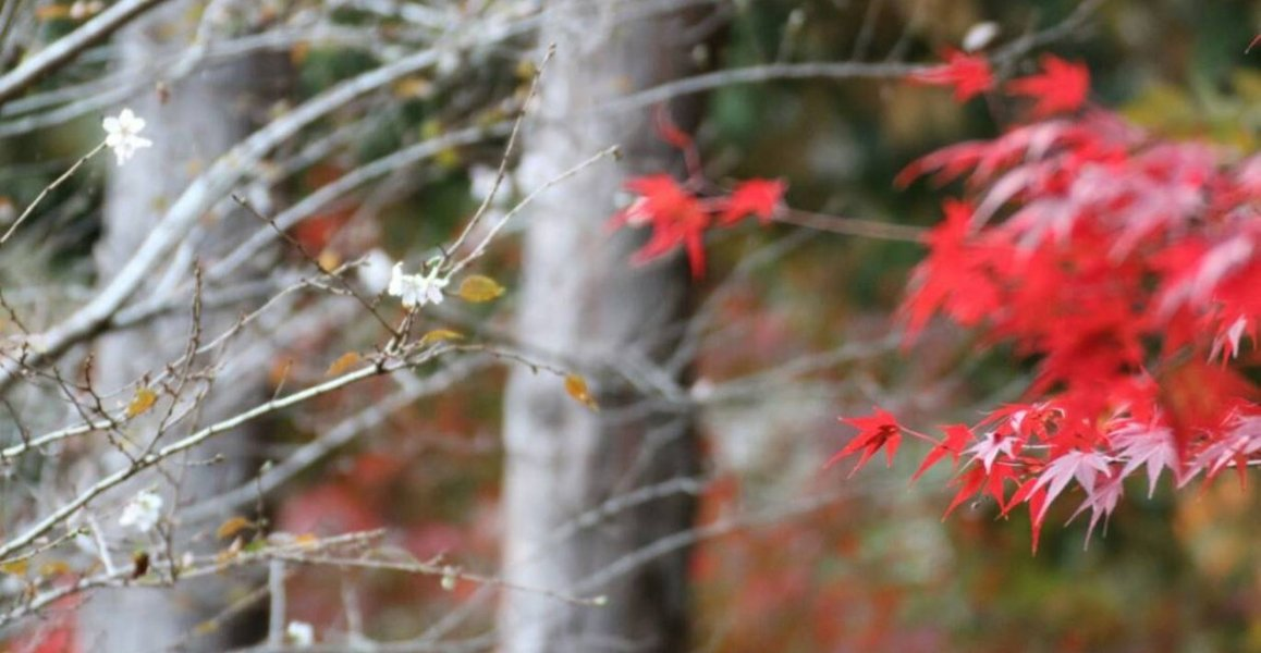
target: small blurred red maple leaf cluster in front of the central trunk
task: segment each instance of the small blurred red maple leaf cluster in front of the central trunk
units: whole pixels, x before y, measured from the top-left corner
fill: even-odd
[[[609,222],[610,228],[651,227],[648,242],[632,257],[636,263],[667,256],[682,247],[692,279],[705,276],[705,234],[709,229],[730,227],[755,216],[767,224],[783,207],[787,184],[778,179],[740,182],[728,194],[702,197],[702,182],[696,147],[691,137],[672,125],[665,113],[657,113],[657,131],[662,140],[683,151],[690,169],[689,179],[676,182],[667,174],[636,176],[625,189],[637,197]]]

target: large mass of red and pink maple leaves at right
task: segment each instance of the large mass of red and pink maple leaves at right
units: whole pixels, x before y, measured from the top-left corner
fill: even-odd
[[[966,100],[992,87],[971,59],[984,61],[956,53],[913,81]],[[1150,494],[1165,471],[1183,487],[1261,464],[1258,388],[1245,374],[1261,358],[1261,155],[1163,140],[1090,107],[1083,66],[1042,67],[1005,86],[1033,100],[1031,122],[929,154],[898,179],[966,189],[944,202],[912,272],[908,343],[936,315],[1010,343],[1037,362],[1024,400],[939,440],[884,411],[847,419],[859,435],[831,461],[860,454],[856,469],[881,448],[892,461],[902,435],[929,440],[917,478],[947,456],[961,468],[947,513],[973,497],[1004,516],[1025,506],[1034,548],[1069,492],[1090,538],[1139,470]]]

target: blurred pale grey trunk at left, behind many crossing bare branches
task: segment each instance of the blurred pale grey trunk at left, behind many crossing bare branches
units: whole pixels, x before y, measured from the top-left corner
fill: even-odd
[[[200,20],[200,3],[179,1],[156,10],[115,38],[120,50],[119,67],[136,76],[148,76],[153,64],[187,50]],[[274,54],[251,54],[193,72],[169,88],[148,86],[130,101],[130,107],[148,121],[141,134],[153,140],[150,149],[139,150],[126,165],[110,161],[103,231],[96,260],[100,282],[106,284],[126,263],[131,252],[145,240],[155,222],[188,183],[217,156],[248,135],[284,91],[288,69]],[[112,158],[111,158],[112,159]],[[195,261],[212,260],[260,227],[257,218],[231,211],[231,204],[203,218],[202,226],[185,243],[171,269],[149,281],[160,284],[188,281]],[[228,282],[262,274],[262,266],[241,270]],[[145,291],[140,292],[144,296]],[[150,325],[113,334],[98,340],[97,386],[113,391],[141,374],[156,374],[185,350],[192,328],[192,294],[188,306],[175,315]],[[251,305],[207,309],[202,314],[203,344],[231,328]],[[261,339],[251,333],[235,338],[224,349],[227,358],[198,358],[198,368],[212,361],[222,366],[216,379],[194,382],[185,392],[206,391],[195,424],[207,425],[266,400],[266,373],[270,359],[260,355]],[[242,352],[251,350],[251,354]],[[248,357],[248,359],[243,359]],[[124,397],[126,400],[126,397]],[[160,411],[151,411],[153,413]],[[183,426],[179,432],[188,432]],[[253,432],[250,432],[253,431]],[[126,492],[156,488],[169,511],[175,502],[194,503],[235,488],[257,470],[257,429],[243,429],[217,437],[188,458],[166,465],[164,474],[146,474],[126,487]],[[137,440],[148,444],[151,429],[139,430]],[[166,437],[173,437],[168,435]],[[103,445],[102,445],[103,446]],[[103,448],[101,460],[107,466],[124,461],[117,451]],[[207,464],[214,456],[222,461]],[[184,465],[183,461],[189,464]],[[111,465],[112,463],[112,465]],[[125,494],[120,493],[120,494]],[[116,518],[116,517],[115,517]],[[105,524],[110,531],[111,524]],[[207,537],[207,528],[209,536]],[[214,524],[179,524],[173,533],[177,553],[194,535],[199,553],[213,551]],[[127,551],[115,553],[115,562],[130,565]],[[122,589],[95,594],[83,608],[79,637],[82,650],[155,650],[188,638],[182,650],[217,652],[231,648],[243,634],[238,621],[216,632],[197,634],[197,624],[219,615],[240,598],[228,579],[198,580],[171,590]],[[236,632],[233,632],[236,630]]]

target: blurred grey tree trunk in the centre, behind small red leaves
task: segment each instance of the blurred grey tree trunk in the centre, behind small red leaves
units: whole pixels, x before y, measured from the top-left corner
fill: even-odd
[[[560,379],[526,368],[513,371],[507,388],[504,574],[521,585],[561,591],[690,528],[695,512],[692,497],[672,494],[554,538],[562,524],[610,498],[692,477],[699,466],[691,416],[654,402],[618,374],[673,353],[691,308],[686,266],[680,258],[632,266],[642,234],[610,236],[605,227],[628,175],[677,170],[680,159],[658,139],[651,111],[594,111],[691,73],[689,26],[697,16],[625,21],[617,8],[617,0],[551,8],[540,38],[556,45],[556,58],[543,74],[521,163],[525,187],[537,188],[609,145],[624,155],[622,164],[600,161],[559,184],[525,217],[518,337],[575,363],[600,403],[593,412],[567,397]],[[681,126],[695,126],[695,101],[671,110]],[[605,595],[603,608],[507,591],[499,608],[502,650],[682,650],[687,553],[654,557],[584,591]]]

